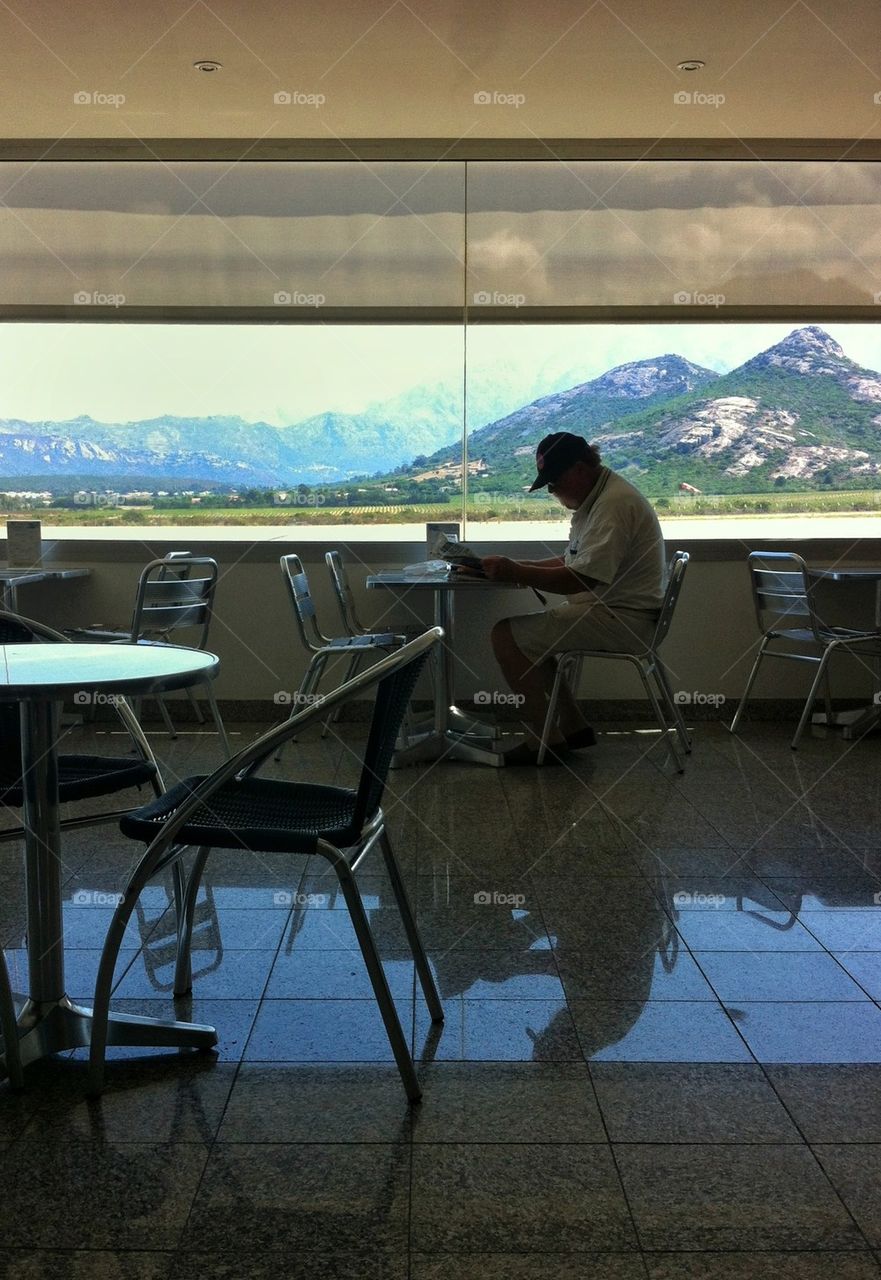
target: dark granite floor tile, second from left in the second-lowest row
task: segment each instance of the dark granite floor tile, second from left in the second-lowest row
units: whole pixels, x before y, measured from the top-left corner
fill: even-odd
[[[400,1253],[407,1243],[403,1144],[222,1143],[192,1206],[184,1252]]]

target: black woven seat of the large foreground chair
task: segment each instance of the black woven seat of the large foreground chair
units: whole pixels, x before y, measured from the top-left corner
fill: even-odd
[[[125,814],[120,831],[149,844],[204,781],[204,777],[184,778],[165,795]],[[232,781],[196,810],[175,842],[266,854],[311,854],[319,840],[327,840],[346,849],[361,836],[360,826],[353,827],[356,799],[356,792],[347,787],[254,777]]]

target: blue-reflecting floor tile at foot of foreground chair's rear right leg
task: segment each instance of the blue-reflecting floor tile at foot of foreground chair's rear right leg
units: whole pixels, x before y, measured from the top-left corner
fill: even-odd
[[[416,1053],[425,1061],[581,1061],[572,1019],[560,1000],[444,1000],[443,1027],[416,1006]]]

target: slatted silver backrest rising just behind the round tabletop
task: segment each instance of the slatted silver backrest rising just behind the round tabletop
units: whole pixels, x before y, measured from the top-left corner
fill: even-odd
[[[210,556],[151,561],[138,579],[132,640],[168,640],[173,631],[198,627],[198,636],[188,637],[192,649],[204,649],[214,609],[218,585],[218,563]]]

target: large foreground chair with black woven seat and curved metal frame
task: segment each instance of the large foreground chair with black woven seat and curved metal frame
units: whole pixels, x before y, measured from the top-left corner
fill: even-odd
[[[186,778],[165,796],[122,820],[123,833],[142,841],[147,847],[114,913],[101,956],[90,1051],[91,1093],[100,1092],[104,1083],[113,974],[134,904],[158,872],[170,864],[178,864],[187,847],[196,846],[198,851],[186,882],[184,911],[178,931],[175,992],[182,995],[187,989],[192,910],[211,849],[237,849],[246,854],[307,854],[324,858],[339,881],[407,1097],[412,1102],[419,1100],[421,1091],[407,1039],[401,1028],[353,873],[366,854],[378,845],[429,1012],[433,1021],[442,1021],[443,1010],[438,991],[380,808],[394,740],[405,709],[428,652],[438,643],[442,634],[439,627],[433,627],[334,692],[303,708],[284,724],[264,733],[210,777]],[[300,728],[323,718],[334,707],[370,690],[375,690],[375,700],[357,787],[255,777],[260,765]]]

